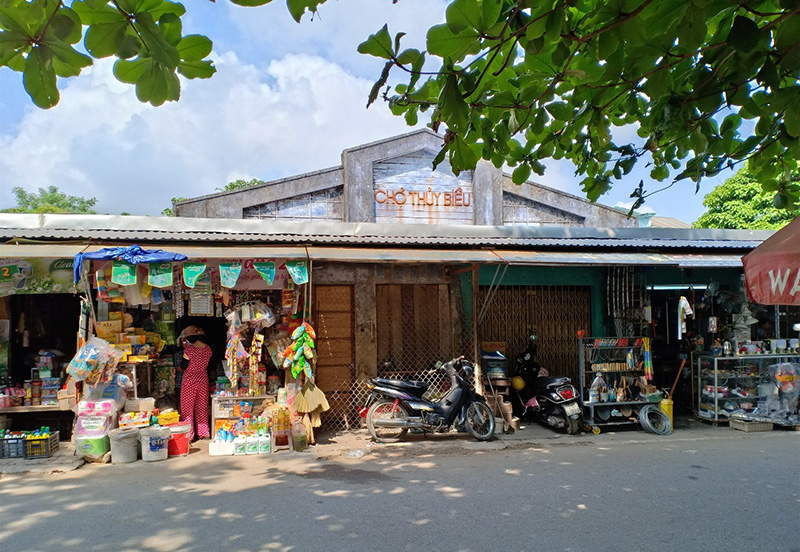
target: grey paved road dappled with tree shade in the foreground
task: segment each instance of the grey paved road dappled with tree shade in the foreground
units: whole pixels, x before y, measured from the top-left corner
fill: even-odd
[[[799,445],[775,431],[4,475],[0,550],[798,552]]]

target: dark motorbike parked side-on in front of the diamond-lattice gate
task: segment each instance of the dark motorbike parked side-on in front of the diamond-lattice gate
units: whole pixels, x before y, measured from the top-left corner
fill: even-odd
[[[422,398],[428,389],[423,381],[373,378],[367,382],[371,394],[360,414],[366,418],[367,429],[375,441],[397,442],[409,429],[445,432],[455,428],[479,441],[492,438],[494,414],[486,399],[469,384],[473,365],[458,357],[428,373],[437,372],[444,372],[450,378],[450,390],[436,401]]]

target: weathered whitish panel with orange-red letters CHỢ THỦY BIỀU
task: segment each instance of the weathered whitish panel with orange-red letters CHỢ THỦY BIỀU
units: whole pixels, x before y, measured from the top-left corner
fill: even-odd
[[[373,198],[375,222],[474,223],[472,181],[430,169],[376,179]]]

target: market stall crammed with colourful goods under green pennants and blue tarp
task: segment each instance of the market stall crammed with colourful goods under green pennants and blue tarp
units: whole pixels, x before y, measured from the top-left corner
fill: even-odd
[[[198,336],[207,347],[201,370],[213,384],[199,399],[211,400],[211,454],[313,444],[328,405],[313,383],[305,260],[188,259],[132,246],[77,256],[75,280],[95,299],[67,367],[78,382],[75,443],[85,458],[118,461],[116,447],[119,461],[129,461],[134,432],[151,461],[188,453],[194,424],[205,437],[206,410],[181,412],[178,399]]]

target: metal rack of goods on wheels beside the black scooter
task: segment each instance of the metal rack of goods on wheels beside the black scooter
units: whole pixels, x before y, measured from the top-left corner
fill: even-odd
[[[638,423],[639,408],[656,402],[648,401],[645,394],[648,389],[639,386],[649,361],[646,345],[647,340],[641,337],[578,338],[584,423],[595,432],[601,425]],[[591,387],[598,375],[608,391],[595,396]],[[620,394],[624,400],[619,400]]]

